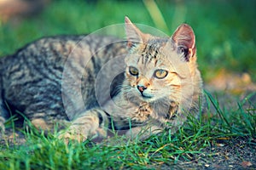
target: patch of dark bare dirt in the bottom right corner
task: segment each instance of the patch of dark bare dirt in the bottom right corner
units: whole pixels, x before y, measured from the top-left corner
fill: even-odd
[[[220,140],[202,150],[194,161],[178,161],[175,169],[256,169],[256,140]]]

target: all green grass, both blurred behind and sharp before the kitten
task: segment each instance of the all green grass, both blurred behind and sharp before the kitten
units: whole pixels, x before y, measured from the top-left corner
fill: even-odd
[[[139,1],[53,1],[35,17],[0,22],[0,56],[12,54],[39,37],[88,33],[122,23],[128,15],[135,23],[154,26],[169,35],[180,23],[189,23],[195,29],[199,65],[206,81],[222,68],[248,72],[256,80],[254,1],[156,1],[156,4],[157,8]],[[160,10],[160,20],[155,20],[148,9]],[[199,120],[190,117],[175,135],[164,132],[145,141],[125,142],[121,137],[113,137],[116,144],[95,144],[88,140],[66,145],[55,138],[56,133],[44,136],[32,127],[30,130],[24,127],[21,132],[26,136],[25,144],[6,141],[0,145],[0,169],[154,168],[195,161],[206,147],[219,140],[245,138],[255,147],[252,141],[256,138],[256,110],[250,102],[253,95],[237,100],[236,106],[224,107],[229,104],[207,93],[206,116]],[[12,120],[7,126],[14,127]]]

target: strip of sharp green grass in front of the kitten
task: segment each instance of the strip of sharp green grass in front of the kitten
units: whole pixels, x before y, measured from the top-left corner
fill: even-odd
[[[26,144],[0,146],[0,167],[2,169],[121,169],[155,168],[168,166],[178,161],[199,159],[206,147],[218,140],[247,138],[249,144],[256,137],[255,105],[248,104],[250,96],[238,103],[236,109],[224,111],[211,94],[208,104],[215,110],[207,111],[200,119],[189,117],[187,125],[175,134],[169,132],[140,141],[127,141],[113,137],[111,142],[101,144],[90,142],[65,144],[56,138],[57,133],[45,136],[31,127],[22,132]],[[241,109],[249,105],[247,111]],[[230,112],[232,114],[230,114]],[[255,147],[255,143],[251,143]]]

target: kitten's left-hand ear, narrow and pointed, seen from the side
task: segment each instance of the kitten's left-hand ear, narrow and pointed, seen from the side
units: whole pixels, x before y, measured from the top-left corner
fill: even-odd
[[[125,16],[125,31],[129,48],[133,47],[137,42],[143,42],[143,32],[132,24],[127,16]]]

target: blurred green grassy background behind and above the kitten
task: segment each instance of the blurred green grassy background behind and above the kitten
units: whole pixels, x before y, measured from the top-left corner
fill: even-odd
[[[255,9],[254,0],[53,0],[37,14],[18,14],[18,18],[9,20],[0,15],[0,56],[12,54],[39,37],[84,34],[123,23],[127,15],[134,23],[153,26],[169,35],[183,22],[192,26],[205,80],[224,68],[239,74],[247,72],[255,82]]]

